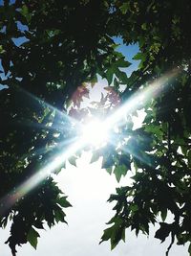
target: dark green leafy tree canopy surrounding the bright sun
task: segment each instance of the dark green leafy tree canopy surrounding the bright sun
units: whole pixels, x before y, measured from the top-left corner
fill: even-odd
[[[82,113],[77,97],[88,93],[84,82],[94,84],[97,74],[107,79],[121,105],[160,78],[167,88],[138,105],[146,112],[141,128],[132,129],[137,109],[128,116],[117,133],[120,150],[108,144],[95,152],[104,156],[103,167],[117,180],[136,169],[132,185],[118,188],[109,198],[117,201],[116,215],[102,241],[110,240],[114,248],[125,239],[126,228],[148,234],[149,224],[160,215],[156,238],[163,242],[171,235],[167,254],[175,238],[178,244],[191,242],[190,9],[187,0],[2,3],[0,223],[4,227],[12,221],[7,242],[12,255],[17,244],[36,247],[36,230],[44,222],[51,227],[65,221],[64,208],[70,203],[53,176],[45,175],[40,182],[32,177],[69,147],[77,132],[70,115]],[[130,63],[117,52],[114,36],[125,44],[138,43],[139,68],[130,78],[120,69]],[[167,76],[172,73],[177,74],[174,79]],[[126,85],[124,91],[121,84]],[[101,104],[118,105],[108,90]],[[69,105],[74,106],[70,112]],[[54,173],[63,166],[64,161]],[[26,185],[31,179],[36,187],[30,191]],[[170,223],[169,213],[174,218]]]

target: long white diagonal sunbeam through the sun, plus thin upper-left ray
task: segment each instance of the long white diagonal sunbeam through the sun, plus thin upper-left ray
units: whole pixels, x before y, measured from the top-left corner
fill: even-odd
[[[173,70],[159,80],[152,82],[145,89],[138,91],[124,105],[118,107],[112,115],[107,117],[104,122],[95,120],[91,124],[82,125],[74,121],[76,124],[76,129],[82,128],[78,139],[76,139],[76,141],[70,147],[68,147],[67,150],[61,151],[58,155],[55,155],[53,161],[50,161],[50,163],[39,170],[37,174],[32,175],[27,181],[20,184],[9,195],[2,198],[0,200],[0,204],[3,204],[4,211],[11,208],[11,206],[19,198],[24,197],[27,193],[34,189],[43,179],[51,175],[55,169],[61,167],[65,160],[72,156],[76,151],[83,149],[87,145],[95,145],[97,147],[97,145],[101,145],[101,143],[106,142],[109,138],[108,133],[110,130],[114,129],[114,127],[117,125],[120,126],[120,122],[122,120],[125,122],[125,117],[137,110],[139,105],[146,105],[148,101],[156,98],[161,91],[166,89],[167,81],[172,81],[172,79],[174,79],[178,73],[178,70]],[[36,101],[41,101],[29,93],[28,95],[30,95],[32,99]],[[42,105],[46,105],[57,111],[60,118],[63,118],[63,116],[66,117],[65,113],[62,113],[52,105],[48,105],[44,102],[42,102]],[[67,116],[67,118],[69,117]],[[2,208],[3,207],[1,207],[1,209]]]

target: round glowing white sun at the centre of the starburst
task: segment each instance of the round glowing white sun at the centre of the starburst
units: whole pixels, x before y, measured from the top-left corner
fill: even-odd
[[[82,127],[82,140],[87,145],[101,147],[109,138],[109,128],[106,123],[94,119]]]

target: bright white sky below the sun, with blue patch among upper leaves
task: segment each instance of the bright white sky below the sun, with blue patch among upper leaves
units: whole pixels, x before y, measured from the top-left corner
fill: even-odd
[[[1,1],[0,1],[1,3]],[[138,67],[138,61],[132,60],[138,53],[138,45],[124,46],[120,38],[115,38],[120,44],[118,51],[122,52],[132,65],[126,69],[129,76],[133,70]],[[104,81],[105,82],[105,81]],[[103,87],[104,82],[102,81]],[[96,87],[98,88],[98,87]],[[102,89],[94,89],[100,90]],[[97,96],[97,91],[94,92]],[[93,95],[94,95],[93,93]],[[139,120],[139,117],[138,117]],[[138,125],[138,120],[135,120]],[[17,247],[18,256],[143,256],[143,255],[165,255],[166,248],[170,241],[160,244],[159,240],[154,239],[154,233],[157,227],[151,227],[150,237],[139,235],[135,232],[126,232],[126,243],[120,242],[113,251],[110,250],[109,243],[98,244],[103,233],[107,228],[106,222],[113,216],[113,204],[108,203],[110,194],[115,193],[117,186],[130,182],[130,177],[124,177],[120,184],[114,175],[109,175],[101,169],[101,159],[94,164],[90,164],[90,152],[84,152],[82,158],[78,160],[77,167],[67,165],[56,176],[60,188],[69,196],[69,201],[73,207],[66,210],[66,224],[57,224],[51,230],[40,232],[37,249],[34,250],[30,244],[24,244]],[[131,174],[130,174],[131,175]],[[4,242],[9,237],[8,226],[5,230],[0,230],[0,251],[1,255],[11,256],[11,250]],[[187,248],[173,245],[170,255],[187,256]]]

